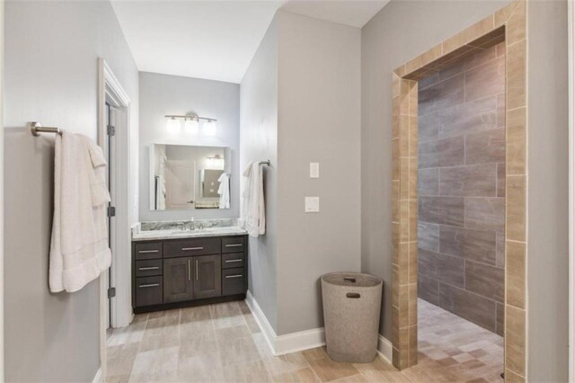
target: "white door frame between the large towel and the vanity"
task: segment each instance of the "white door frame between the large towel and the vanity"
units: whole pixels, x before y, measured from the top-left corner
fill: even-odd
[[[106,102],[123,110],[123,119],[119,119],[116,126],[115,150],[112,153],[111,166],[116,185],[116,218],[113,226],[114,241],[112,248],[112,286],[117,288],[115,298],[111,299],[111,326],[120,327],[131,322],[132,313],[131,296],[129,294],[130,281],[130,227],[129,227],[129,112],[130,100],[118,78],[114,76],[111,68],[103,58],[98,58],[98,145],[105,147],[107,136]],[[123,254],[125,256],[118,256]],[[128,288],[126,288],[128,287]],[[126,292],[128,291],[128,292]],[[100,358],[102,373],[106,373],[106,322],[108,313],[108,271],[100,275]]]

